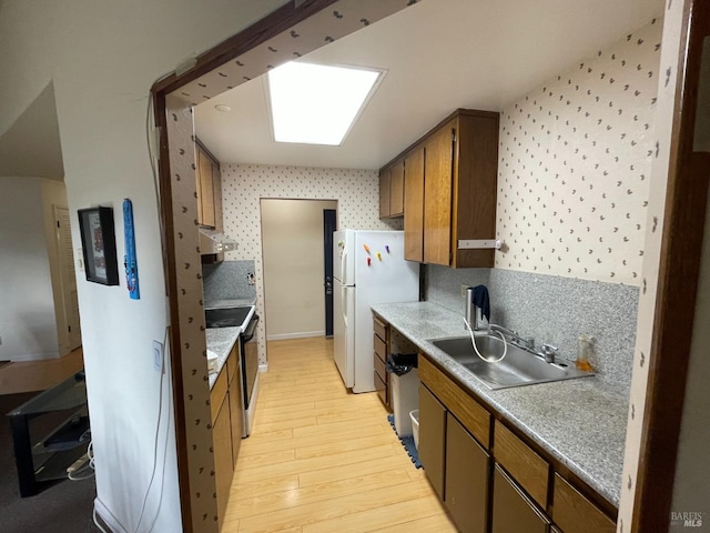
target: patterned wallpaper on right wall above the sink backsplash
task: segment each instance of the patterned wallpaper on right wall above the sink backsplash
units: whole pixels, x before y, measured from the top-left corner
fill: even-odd
[[[661,21],[505,108],[496,266],[639,285]]]

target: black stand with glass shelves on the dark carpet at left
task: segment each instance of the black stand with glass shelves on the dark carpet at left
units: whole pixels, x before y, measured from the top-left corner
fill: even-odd
[[[91,441],[83,370],[7,416],[12,430],[20,495],[36,494],[42,482],[67,479],[67,467],[87,453]]]

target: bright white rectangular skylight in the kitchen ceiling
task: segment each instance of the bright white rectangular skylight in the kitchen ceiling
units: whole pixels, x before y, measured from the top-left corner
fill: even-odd
[[[291,62],[268,72],[276,142],[339,145],[383,72]]]

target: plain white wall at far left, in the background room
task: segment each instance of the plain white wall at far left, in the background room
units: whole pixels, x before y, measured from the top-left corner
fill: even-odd
[[[41,178],[0,178],[0,360],[59,356]]]

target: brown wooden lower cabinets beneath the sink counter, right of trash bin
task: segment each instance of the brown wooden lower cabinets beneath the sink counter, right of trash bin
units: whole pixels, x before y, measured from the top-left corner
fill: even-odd
[[[426,354],[418,361],[419,460],[462,533],[616,531],[601,496],[589,487],[585,496],[555,472],[555,461],[504,416],[491,423],[475,395]]]

